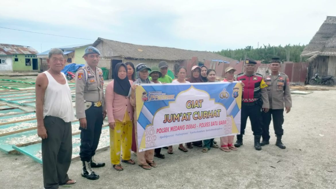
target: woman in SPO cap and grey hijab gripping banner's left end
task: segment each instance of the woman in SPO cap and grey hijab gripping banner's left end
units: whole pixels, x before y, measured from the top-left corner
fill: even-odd
[[[135,99],[135,89],[137,87],[136,84],[141,84],[141,83],[153,83],[148,79],[148,71],[152,71],[150,68],[148,68],[145,64],[141,63],[136,66],[136,73],[138,78],[133,82],[133,85],[131,86],[131,90],[129,93],[129,97],[131,105],[134,107],[134,126],[135,126],[135,136],[137,136],[137,117],[136,117],[136,99]],[[136,156],[138,159],[138,164],[140,167],[144,169],[151,169],[152,167],[157,167],[158,165],[153,161],[154,159],[154,149],[152,150],[146,150],[139,152],[139,144],[138,141],[136,141],[136,147],[137,147],[137,152]]]

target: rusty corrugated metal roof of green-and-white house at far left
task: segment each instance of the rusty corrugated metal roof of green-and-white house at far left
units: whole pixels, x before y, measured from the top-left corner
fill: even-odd
[[[37,54],[38,51],[33,47],[22,46],[22,45],[12,45],[12,44],[0,44],[0,51],[3,54]]]

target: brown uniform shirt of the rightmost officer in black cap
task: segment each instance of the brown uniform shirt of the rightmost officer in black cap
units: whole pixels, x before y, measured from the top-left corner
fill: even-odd
[[[289,79],[286,74],[279,72],[277,76],[273,76],[270,73],[264,75],[263,79],[267,85],[266,89],[270,109],[284,109],[284,107],[292,107]]]

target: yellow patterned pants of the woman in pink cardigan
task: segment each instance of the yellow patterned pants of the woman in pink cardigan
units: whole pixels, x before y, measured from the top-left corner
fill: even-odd
[[[125,123],[116,122],[114,129],[110,128],[110,156],[111,163],[117,165],[120,163],[120,152],[122,150],[122,159],[131,159],[132,147],[132,121]]]

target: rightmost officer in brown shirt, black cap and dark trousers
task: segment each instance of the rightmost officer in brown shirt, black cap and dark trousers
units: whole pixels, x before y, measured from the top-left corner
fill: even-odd
[[[288,76],[279,72],[281,61],[279,58],[273,58],[270,63],[271,73],[263,76],[267,84],[269,111],[262,112],[262,142],[261,146],[269,144],[269,124],[273,119],[273,127],[277,136],[277,145],[281,149],[285,149],[286,146],[282,144],[281,138],[284,134],[282,124],[284,123],[284,107],[286,113],[291,110],[292,97],[289,88]]]

